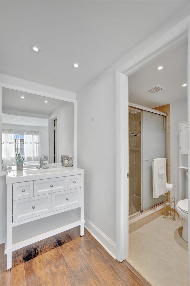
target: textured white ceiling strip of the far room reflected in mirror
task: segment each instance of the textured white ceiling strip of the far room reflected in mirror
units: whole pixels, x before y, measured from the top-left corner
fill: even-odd
[[[47,127],[47,119],[36,118],[22,115],[3,114],[2,123],[27,125],[27,126],[44,126]]]

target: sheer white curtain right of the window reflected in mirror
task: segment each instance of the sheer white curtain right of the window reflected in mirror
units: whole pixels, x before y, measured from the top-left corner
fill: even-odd
[[[24,157],[26,161],[39,161],[40,133],[37,131],[24,131]]]

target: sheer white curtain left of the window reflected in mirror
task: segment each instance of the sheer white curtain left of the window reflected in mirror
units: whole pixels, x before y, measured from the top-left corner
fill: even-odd
[[[16,164],[15,159],[15,142],[12,129],[2,130],[2,160],[4,166],[12,166]]]

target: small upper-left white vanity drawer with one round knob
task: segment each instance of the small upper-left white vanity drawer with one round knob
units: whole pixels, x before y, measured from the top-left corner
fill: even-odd
[[[33,181],[12,184],[12,200],[33,197]]]

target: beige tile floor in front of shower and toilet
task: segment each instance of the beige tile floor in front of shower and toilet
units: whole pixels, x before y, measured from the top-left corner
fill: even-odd
[[[188,243],[183,222],[156,218],[129,234],[126,259],[153,286],[189,286]]]

